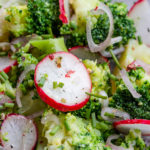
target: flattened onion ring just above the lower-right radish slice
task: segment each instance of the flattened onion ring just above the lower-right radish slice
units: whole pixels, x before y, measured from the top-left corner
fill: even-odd
[[[115,118],[105,116],[105,113],[114,114]],[[101,117],[110,122],[130,119],[130,115],[128,113],[111,107],[104,107],[101,111]]]

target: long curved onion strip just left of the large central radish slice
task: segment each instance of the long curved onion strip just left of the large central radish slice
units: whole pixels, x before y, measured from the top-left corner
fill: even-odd
[[[21,73],[20,77],[19,77],[19,80],[17,82],[17,87],[16,87],[16,103],[18,105],[18,107],[22,107],[22,103],[21,103],[21,100],[20,100],[20,97],[22,95],[22,92],[19,88],[20,84],[23,82],[23,80],[25,79],[26,75],[28,72],[30,72],[31,70],[35,70],[35,64],[32,64],[30,66],[27,66],[24,71]]]

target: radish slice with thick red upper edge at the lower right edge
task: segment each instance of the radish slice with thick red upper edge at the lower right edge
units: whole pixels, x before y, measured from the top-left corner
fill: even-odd
[[[114,123],[114,127],[122,133],[128,133],[131,129],[139,129],[144,136],[150,136],[150,120],[132,119]]]

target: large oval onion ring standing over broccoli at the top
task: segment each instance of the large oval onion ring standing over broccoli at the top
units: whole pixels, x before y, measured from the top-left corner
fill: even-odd
[[[111,10],[109,9],[108,6],[106,6],[104,3],[100,2],[100,6],[98,7],[97,10],[92,10],[92,14],[101,14],[101,12],[104,12],[108,15],[109,21],[110,21],[110,27],[109,27],[109,33],[106,38],[106,40],[100,44],[95,44],[92,38],[92,33],[91,33],[91,26],[92,26],[92,21],[91,17],[87,18],[87,24],[86,24],[86,34],[87,34],[87,41],[89,48],[92,52],[101,52],[105,50],[111,42],[111,37],[113,35],[113,30],[114,30],[114,21],[113,21],[113,15]]]

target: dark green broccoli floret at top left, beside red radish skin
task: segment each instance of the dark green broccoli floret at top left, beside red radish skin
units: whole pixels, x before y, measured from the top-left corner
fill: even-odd
[[[58,34],[61,21],[59,20],[58,0],[28,0],[29,17],[28,32],[36,34]],[[52,28],[52,29],[51,29]],[[51,31],[52,30],[52,31]]]

